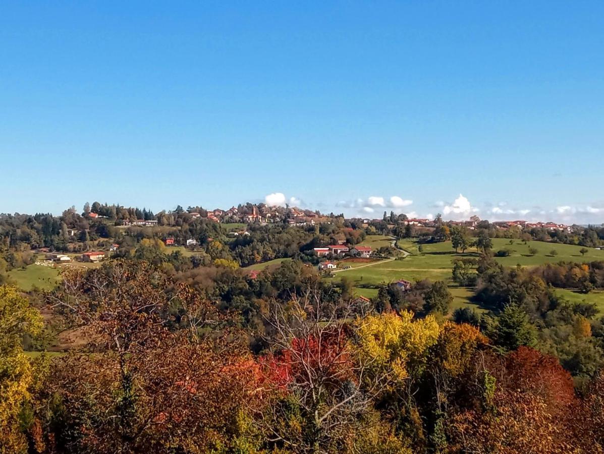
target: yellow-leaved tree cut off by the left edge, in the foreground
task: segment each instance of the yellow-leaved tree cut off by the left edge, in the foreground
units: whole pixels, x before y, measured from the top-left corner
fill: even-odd
[[[24,333],[42,329],[40,313],[14,287],[0,286],[0,452],[26,452],[19,412],[31,398],[34,365],[22,351]]]

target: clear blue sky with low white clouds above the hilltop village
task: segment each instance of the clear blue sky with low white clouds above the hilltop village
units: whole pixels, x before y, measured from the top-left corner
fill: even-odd
[[[0,212],[604,222],[603,48],[601,1],[3,2]]]

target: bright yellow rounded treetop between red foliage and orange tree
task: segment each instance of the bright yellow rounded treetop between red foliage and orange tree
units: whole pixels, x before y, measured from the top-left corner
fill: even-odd
[[[372,360],[375,372],[390,369],[394,380],[420,373],[428,348],[439,338],[440,327],[429,315],[413,320],[413,313],[383,313],[358,322],[356,351]]]

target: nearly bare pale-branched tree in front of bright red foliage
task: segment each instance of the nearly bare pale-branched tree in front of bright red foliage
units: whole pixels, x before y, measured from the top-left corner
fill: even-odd
[[[286,307],[273,304],[268,318],[274,353],[263,359],[263,376],[274,393],[259,424],[269,443],[293,452],[345,450],[393,379],[352,344],[357,325],[343,321],[355,318],[354,306],[321,296],[309,290]]]

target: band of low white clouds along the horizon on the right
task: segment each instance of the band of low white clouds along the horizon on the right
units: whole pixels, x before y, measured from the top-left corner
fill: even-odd
[[[511,207],[507,202],[484,202],[479,208],[463,194],[459,194],[452,202],[439,200],[432,203],[423,213],[421,207],[413,206],[413,199],[400,196],[368,196],[365,199],[339,200],[335,204],[330,204],[327,200],[321,200],[321,203],[313,205],[313,203],[304,203],[298,197],[286,197],[283,193],[275,192],[265,196],[264,201],[267,205],[300,206],[300,208],[310,209],[318,208],[318,206],[332,206],[334,211],[344,211],[345,216],[350,217],[372,217],[372,215],[373,217],[381,217],[382,211],[394,211],[396,214],[404,213],[410,218],[423,217],[426,219],[433,219],[434,213],[440,213],[445,220],[464,220],[471,216],[479,216],[481,219],[489,220],[551,220],[579,224],[600,224],[604,222],[604,200],[590,205],[560,205],[553,208],[542,208],[541,206],[532,206],[531,208]]]

